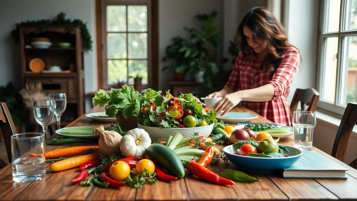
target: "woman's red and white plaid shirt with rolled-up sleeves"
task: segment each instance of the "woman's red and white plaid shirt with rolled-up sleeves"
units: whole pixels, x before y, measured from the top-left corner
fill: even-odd
[[[239,53],[233,71],[226,84],[233,92],[238,90],[253,89],[266,84],[274,87],[274,97],[266,102],[242,101],[242,105],[261,116],[277,123],[290,126],[290,104],[288,95],[290,84],[300,63],[300,54],[294,47],[284,53],[276,71],[272,74],[252,54]]]

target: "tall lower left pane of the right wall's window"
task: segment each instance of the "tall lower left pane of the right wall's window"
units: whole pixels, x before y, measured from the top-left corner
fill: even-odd
[[[327,38],[325,44],[326,52],[323,61],[322,99],[334,103],[336,92],[338,37]]]

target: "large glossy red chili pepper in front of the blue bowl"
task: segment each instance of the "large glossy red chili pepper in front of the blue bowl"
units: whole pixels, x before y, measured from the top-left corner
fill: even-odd
[[[216,183],[219,185],[233,185],[235,184],[234,181],[220,177],[216,173],[208,170],[206,167],[201,166],[200,164],[196,163],[195,161],[190,161],[187,164],[186,170],[192,175],[195,175],[198,178],[201,178],[205,181]]]

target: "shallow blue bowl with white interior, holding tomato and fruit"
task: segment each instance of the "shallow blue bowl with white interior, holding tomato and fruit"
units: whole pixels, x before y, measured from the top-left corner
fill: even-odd
[[[286,147],[290,151],[289,157],[261,158],[235,155],[234,153],[238,153],[239,149],[233,148],[233,145],[226,146],[223,148],[223,151],[225,152],[228,160],[242,169],[250,172],[270,173],[281,168],[292,166],[302,155],[302,151],[300,149],[291,146],[282,146]]]

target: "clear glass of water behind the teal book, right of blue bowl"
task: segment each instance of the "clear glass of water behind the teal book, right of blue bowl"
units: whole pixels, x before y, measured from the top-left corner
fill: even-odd
[[[316,125],[316,114],[310,111],[295,111],[292,115],[294,127],[294,147],[302,150],[312,149],[313,129]]]

